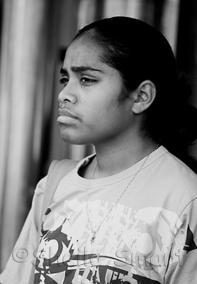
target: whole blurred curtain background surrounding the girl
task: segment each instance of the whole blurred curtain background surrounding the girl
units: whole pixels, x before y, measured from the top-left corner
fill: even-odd
[[[108,16],[140,18],[166,35],[197,107],[196,0],[0,0],[0,269],[50,162],[93,151],[60,138],[60,67],[77,30]]]

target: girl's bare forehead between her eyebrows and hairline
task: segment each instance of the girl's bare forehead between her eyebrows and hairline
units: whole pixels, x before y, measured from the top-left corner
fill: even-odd
[[[101,48],[89,40],[74,40],[67,49],[64,67],[81,65],[106,65],[101,60]]]

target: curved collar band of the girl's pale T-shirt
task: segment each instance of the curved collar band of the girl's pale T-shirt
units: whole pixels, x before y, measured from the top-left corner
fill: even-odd
[[[147,168],[150,164],[154,163],[157,158],[161,157],[165,153],[167,153],[167,149],[164,148],[164,146],[159,146],[157,150],[155,150],[153,153],[150,154],[150,157],[148,158],[147,162],[145,163],[144,167],[142,170]],[[89,179],[87,178],[82,178],[78,174],[78,170],[81,167],[81,165],[84,165],[86,163],[89,163],[89,160],[93,158],[96,155],[96,153],[91,154],[87,156],[86,158],[82,159],[78,164],[77,167],[74,169],[74,183],[80,187],[89,187],[89,188],[94,188],[98,186],[103,186],[103,185],[112,185],[116,182],[119,182],[120,180],[124,180],[126,178],[130,178],[132,175],[134,175],[137,170],[140,169],[140,166],[142,165],[143,161],[145,158],[142,158],[142,160],[138,161],[135,163],[135,165],[132,165],[130,168],[127,168],[120,173],[117,173],[115,175],[110,175],[105,178],[98,178],[98,179],[92,179],[89,185]]]

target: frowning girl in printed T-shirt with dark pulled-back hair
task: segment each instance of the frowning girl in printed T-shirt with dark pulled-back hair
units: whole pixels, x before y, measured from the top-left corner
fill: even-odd
[[[166,38],[134,18],[96,21],[61,74],[61,136],[96,153],[38,183],[1,283],[196,283],[197,178],[169,152],[196,138],[196,112]]]

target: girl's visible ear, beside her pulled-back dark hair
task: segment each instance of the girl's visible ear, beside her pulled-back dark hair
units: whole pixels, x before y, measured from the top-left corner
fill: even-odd
[[[145,111],[150,107],[155,97],[155,84],[150,80],[143,81],[133,92],[133,113],[140,114]]]

